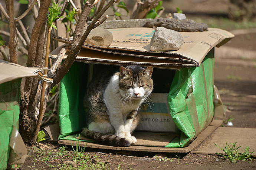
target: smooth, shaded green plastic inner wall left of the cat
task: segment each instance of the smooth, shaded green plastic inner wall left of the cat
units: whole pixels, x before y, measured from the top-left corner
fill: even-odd
[[[68,73],[60,81],[59,125],[60,136],[78,132],[86,126],[83,109],[83,95],[87,84],[86,64],[74,62]]]

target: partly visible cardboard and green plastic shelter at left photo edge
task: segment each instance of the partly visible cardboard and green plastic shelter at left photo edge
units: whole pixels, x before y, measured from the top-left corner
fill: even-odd
[[[40,72],[47,68],[28,68],[0,60],[0,170],[14,164],[23,164],[27,157],[19,129],[20,83],[23,77],[42,77]]]

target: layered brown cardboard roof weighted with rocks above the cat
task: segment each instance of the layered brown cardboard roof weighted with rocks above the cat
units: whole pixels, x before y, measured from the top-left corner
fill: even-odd
[[[203,32],[180,32],[183,35],[184,44],[177,51],[150,51],[150,41],[154,34],[153,28],[135,27],[135,28],[112,28],[108,29],[113,35],[113,42],[109,47],[83,44],[78,58],[80,60],[94,60],[92,63],[108,62],[109,64],[146,64],[161,66],[180,66],[178,68],[168,67],[170,69],[179,69],[181,67],[199,66],[206,54],[215,46],[226,43],[234,37],[228,31],[218,28],[209,28]],[[53,37],[53,39],[70,44],[72,39]],[[59,49],[60,50],[60,49]],[[93,52],[89,52],[89,51]],[[103,52],[103,53],[102,53]],[[98,57],[92,57],[98,55]],[[51,53],[50,57],[56,57]],[[109,55],[110,54],[110,55]],[[123,55],[123,56],[122,56]],[[130,57],[130,56],[133,56]],[[113,58],[114,57],[114,58]],[[134,58],[135,57],[135,58]],[[77,58],[77,59],[78,59]],[[144,60],[142,59],[144,58]],[[161,59],[156,61],[155,59]],[[147,62],[144,62],[144,61]],[[173,61],[177,60],[177,61]],[[136,62],[135,62],[136,61]],[[184,62],[185,61],[185,62]]]

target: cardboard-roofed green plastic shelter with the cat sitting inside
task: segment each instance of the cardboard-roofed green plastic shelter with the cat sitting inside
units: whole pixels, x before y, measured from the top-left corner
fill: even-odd
[[[214,47],[220,47],[229,41],[234,37],[233,34],[217,28],[195,33],[180,32],[184,38],[184,44],[180,50],[150,51],[153,28],[111,28],[108,30],[113,34],[113,43],[109,47],[83,44],[76,57],[77,62],[72,65],[68,74],[60,82],[59,143],[70,145],[69,140],[77,140],[79,132],[86,126],[82,104],[83,95],[86,85],[93,78],[93,68],[99,64],[152,66],[153,75],[157,69],[158,75],[156,76],[158,77],[163,75],[168,77],[171,74],[172,78],[168,86],[170,90],[161,95],[166,96],[168,113],[164,114],[170,116],[171,121],[168,123],[172,123],[174,128],[169,131],[147,129],[148,126],[145,125],[140,129],[139,125],[139,130],[147,131],[134,132],[137,143],[130,147],[103,146],[92,139],[80,136],[79,139],[82,142],[79,142],[79,145],[81,146],[152,152],[189,152],[222,123],[222,121],[213,120]],[[68,38],[53,38],[66,44],[72,42]],[[56,58],[61,48],[62,46],[51,52],[50,57]],[[65,57],[67,55],[65,54]],[[173,72],[168,72],[168,70]],[[161,85],[158,84],[158,86]],[[154,94],[153,91],[153,95],[159,95],[159,93]],[[147,108],[142,106],[142,115],[144,115],[143,112],[145,115],[161,115],[162,113],[158,111],[161,110],[160,108],[161,105],[158,105],[153,110],[147,111]],[[152,120],[152,117],[150,118]],[[147,123],[149,126],[154,126],[154,123],[160,124],[164,119],[159,121],[160,119],[157,118],[157,120],[157,122],[147,121]],[[145,121],[140,123],[145,123]],[[163,133],[163,131],[166,132]],[[193,140],[194,146],[193,143],[189,145]],[[72,145],[74,144],[72,142]]]

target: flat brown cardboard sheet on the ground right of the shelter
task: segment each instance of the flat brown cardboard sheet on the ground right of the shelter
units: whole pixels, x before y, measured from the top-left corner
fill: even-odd
[[[230,127],[219,127],[217,128],[204,142],[201,143],[198,147],[192,150],[191,153],[200,153],[200,154],[216,154],[224,153],[216,145],[221,148],[224,148],[229,143],[235,143],[236,147],[240,147],[240,151],[250,147],[250,152],[256,150],[256,128],[230,128]],[[216,145],[214,145],[216,143]]]

